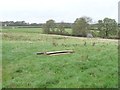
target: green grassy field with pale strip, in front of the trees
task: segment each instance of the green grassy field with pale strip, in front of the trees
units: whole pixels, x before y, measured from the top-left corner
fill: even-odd
[[[86,45],[84,43],[86,42]],[[95,42],[95,46],[92,44]],[[46,56],[36,52],[74,50]],[[117,88],[116,40],[41,34],[41,29],[3,29],[3,87]]]

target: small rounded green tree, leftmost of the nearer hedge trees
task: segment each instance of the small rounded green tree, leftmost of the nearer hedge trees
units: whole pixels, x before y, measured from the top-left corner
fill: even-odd
[[[43,33],[49,34],[49,33],[54,33],[55,31],[55,21],[50,19],[46,21],[46,23],[43,25]]]

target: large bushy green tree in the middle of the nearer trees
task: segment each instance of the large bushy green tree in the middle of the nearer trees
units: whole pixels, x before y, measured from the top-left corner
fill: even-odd
[[[73,24],[72,34],[75,36],[86,36],[89,29],[89,22],[92,19],[89,17],[77,18]]]

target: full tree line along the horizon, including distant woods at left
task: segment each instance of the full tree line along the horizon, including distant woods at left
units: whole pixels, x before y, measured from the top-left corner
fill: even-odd
[[[76,18],[74,23],[60,22],[56,23],[55,20],[50,19],[45,23],[27,23],[25,21],[4,21],[2,26],[19,26],[19,27],[37,27],[43,28],[44,34],[59,34],[67,36],[86,37],[87,34],[92,34],[94,37],[101,38],[120,38],[120,24],[115,19],[104,18],[98,20],[97,23],[92,24],[90,17]],[[72,30],[70,33],[66,28]]]

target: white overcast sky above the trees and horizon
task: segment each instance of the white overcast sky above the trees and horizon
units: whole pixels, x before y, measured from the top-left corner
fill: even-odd
[[[89,16],[93,22],[109,17],[118,20],[119,0],[0,0],[0,21],[44,23],[74,22]]]

